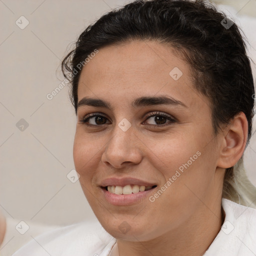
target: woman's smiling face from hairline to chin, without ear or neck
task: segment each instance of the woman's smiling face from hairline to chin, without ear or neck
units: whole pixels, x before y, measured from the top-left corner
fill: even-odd
[[[210,113],[188,64],[169,46],[106,46],[84,66],[73,158],[108,233],[153,239],[211,207],[222,180]]]

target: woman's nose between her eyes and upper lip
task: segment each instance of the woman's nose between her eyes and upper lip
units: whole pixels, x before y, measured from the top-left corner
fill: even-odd
[[[111,168],[123,168],[127,165],[138,164],[142,159],[142,151],[136,141],[138,135],[132,126],[124,131],[117,124],[113,136],[108,140],[101,160]]]

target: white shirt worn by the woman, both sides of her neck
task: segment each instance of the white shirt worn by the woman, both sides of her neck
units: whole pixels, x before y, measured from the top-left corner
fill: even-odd
[[[222,199],[224,223],[203,256],[255,256],[256,209]],[[116,239],[99,222],[80,222],[34,237],[12,256],[108,256]]]

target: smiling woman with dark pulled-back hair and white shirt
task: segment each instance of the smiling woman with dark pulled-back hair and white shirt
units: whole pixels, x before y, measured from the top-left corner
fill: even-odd
[[[75,169],[105,231],[71,225],[14,256],[256,254],[254,86],[235,23],[200,0],[136,0],[89,25],[62,70]]]

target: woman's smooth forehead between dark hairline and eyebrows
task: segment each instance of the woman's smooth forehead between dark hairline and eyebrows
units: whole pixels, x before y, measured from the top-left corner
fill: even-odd
[[[156,41],[129,41],[100,48],[81,71],[78,101],[99,93],[108,101],[167,94],[190,107],[203,97],[192,85],[189,65],[174,54],[173,48]]]

